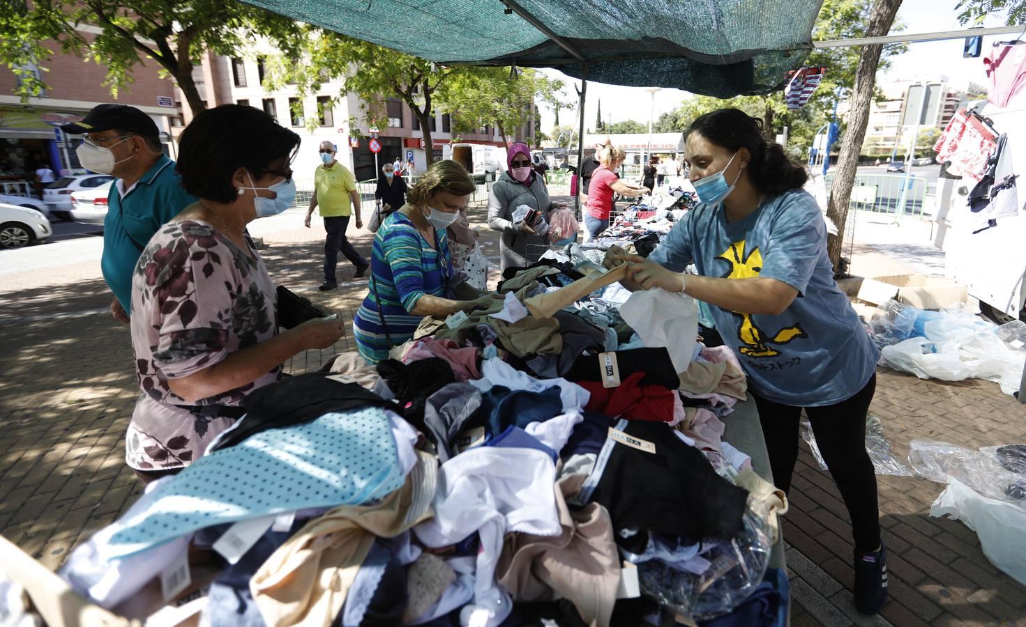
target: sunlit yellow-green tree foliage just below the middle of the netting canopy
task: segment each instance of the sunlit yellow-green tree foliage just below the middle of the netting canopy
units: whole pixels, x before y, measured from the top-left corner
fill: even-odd
[[[439,95],[439,106],[452,116],[453,131],[466,133],[495,124],[509,143],[510,131],[530,119],[531,102],[554,106],[563,97],[563,82],[535,70],[460,68]],[[538,132],[537,119],[532,127]],[[528,138],[529,139],[529,138]]]

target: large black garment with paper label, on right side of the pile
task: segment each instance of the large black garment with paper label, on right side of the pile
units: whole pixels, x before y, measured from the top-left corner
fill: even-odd
[[[602,467],[596,465],[581,493],[586,502],[595,501],[609,511],[618,544],[638,553],[647,544],[645,532],[680,538],[685,544],[733,538],[741,532],[748,499],[744,488],[717,474],[697,449],[674,435],[672,427],[659,422],[621,423],[626,423],[622,431],[629,438],[607,441],[608,460]],[[628,440],[631,444],[624,444]],[[624,538],[623,529],[639,533]]]

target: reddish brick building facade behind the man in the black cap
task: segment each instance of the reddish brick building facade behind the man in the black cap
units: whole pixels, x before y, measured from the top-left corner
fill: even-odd
[[[85,37],[91,36],[88,29],[82,30]],[[51,49],[60,50],[60,44],[49,43]],[[57,52],[43,66],[45,74],[38,67],[25,69],[43,78],[50,88],[26,102],[14,94],[19,77],[0,70],[0,181],[7,192],[24,187],[19,181],[31,183],[35,170],[44,165],[60,175],[84,173],[75,155],[81,139],[63,135],[57,127],[81,120],[103,102],[131,104],[149,115],[162,133],[165,151],[173,155],[169,131],[171,121],[180,117],[175,89],[169,79],[160,77],[156,62],[137,66],[132,84],[120,89],[117,97],[104,85],[107,71],[102,65]]]

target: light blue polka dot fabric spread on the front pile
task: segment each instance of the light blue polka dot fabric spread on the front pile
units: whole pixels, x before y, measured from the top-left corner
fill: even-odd
[[[151,507],[119,521],[108,554],[124,557],[213,525],[366,503],[403,479],[385,410],[324,414],[256,433],[162,482],[146,497]]]

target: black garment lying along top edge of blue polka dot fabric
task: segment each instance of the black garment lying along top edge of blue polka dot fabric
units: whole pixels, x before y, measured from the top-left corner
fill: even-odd
[[[328,412],[347,412],[361,407],[397,410],[391,401],[357,383],[342,383],[331,375],[314,372],[284,377],[246,394],[245,418],[210,445],[207,453],[234,447],[267,429],[310,422]]]

